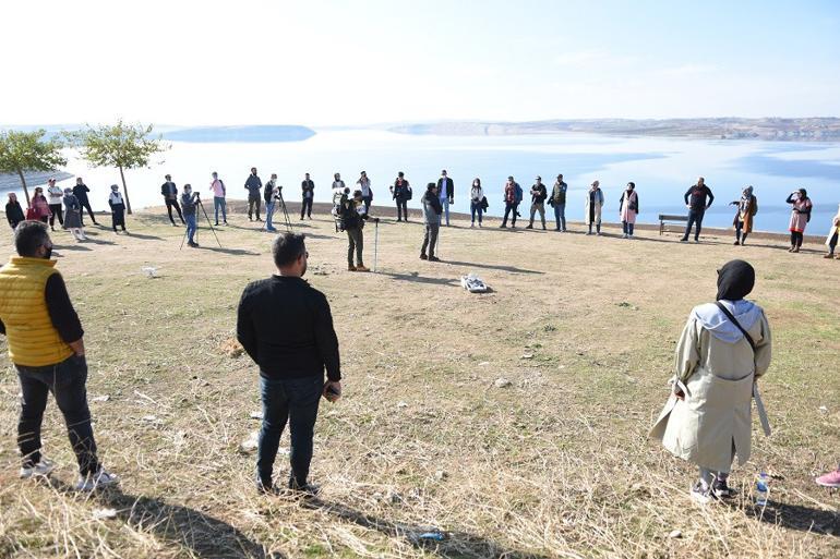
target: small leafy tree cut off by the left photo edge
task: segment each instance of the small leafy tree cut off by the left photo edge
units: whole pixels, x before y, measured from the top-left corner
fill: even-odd
[[[23,173],[55,171],[67,165],[67,159],[61,155],[61,148],[64,147],[61,141],[55,137],[44,139],[46,134],[44,130],[0,132],[0,172],[17,173],[27,205],[29,190]]]

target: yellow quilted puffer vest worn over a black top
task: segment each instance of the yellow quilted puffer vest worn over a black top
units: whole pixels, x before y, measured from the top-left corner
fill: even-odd
[[[73,354],[52,326],[44,296],[47,280],[58,274],[55,266],[53,260],[15,256],[0,268],[0,319],[15,365],[55,365]]]

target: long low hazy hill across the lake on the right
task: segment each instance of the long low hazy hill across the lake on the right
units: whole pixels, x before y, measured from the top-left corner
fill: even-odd
[[[840,119],[663,119],[543,120],[532,122],[436,122],[389,126],[404,134],[521,135],[577,132],[629,136],[718,139],[840,141]]]

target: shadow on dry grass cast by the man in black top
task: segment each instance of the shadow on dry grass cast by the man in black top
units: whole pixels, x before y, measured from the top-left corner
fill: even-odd
[[[500,544],[466,532],[436,532],[430,526],[417,526],[389,522],[372,514],[360,512],[339,502],[312,499],[303,501],[302,506],[340,520],[352,522],[368,530],[375,530],[389,537],[404,538],[418,549],[440,557],[488,558],[504,557],[505,559],[547,559],[548,556],[529,554],[515,549],[506,549]],[[422,537],[427,533],[442,534],[442,539]]]

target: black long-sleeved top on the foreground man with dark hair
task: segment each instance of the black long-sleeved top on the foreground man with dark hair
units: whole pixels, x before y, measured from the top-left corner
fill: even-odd
[[[324,374],[340,380],[338,338],[329,303],[301,278],[272,276],[242,292],[237,339],[269,378]]]

